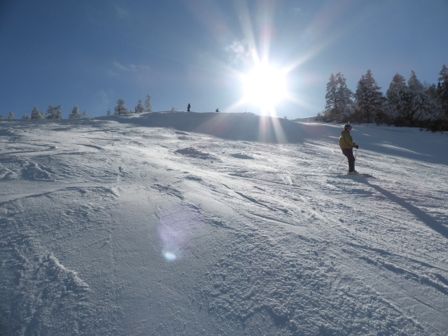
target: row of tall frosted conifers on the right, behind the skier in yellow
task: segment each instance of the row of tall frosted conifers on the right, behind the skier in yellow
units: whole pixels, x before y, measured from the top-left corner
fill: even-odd
[[[372,71],[361,76],[356,92],[346,86],[342,73],[331,74],[325,110],[316,120],[336,123],[377,123],[428,130],[448,130],[448,69],[442,66],[437,85],[422,84],[414,71],[409,80],[395,73],[386,95]]]

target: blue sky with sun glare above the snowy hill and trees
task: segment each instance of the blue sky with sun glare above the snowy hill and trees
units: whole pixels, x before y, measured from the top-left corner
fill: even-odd
[[[367,69],[383,92],[396,72],[437,83],[447,18],[447,0],[1,0],[0,114],[104,116],[151,94],[153,111],[314,116],[331,73],[353,92]],[[260,64],[284,81],[244,80]]]

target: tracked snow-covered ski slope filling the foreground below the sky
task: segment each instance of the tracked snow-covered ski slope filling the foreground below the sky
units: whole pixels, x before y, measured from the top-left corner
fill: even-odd
[[[446,335],[448,135],[0,121],[1,335]]]

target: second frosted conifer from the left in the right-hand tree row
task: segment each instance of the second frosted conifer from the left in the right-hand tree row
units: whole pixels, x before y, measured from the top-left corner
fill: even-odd
[[[384,97],[381,87],[372,76],[372,71],[361,76],[354,94],[359,121],[365,123],[383,123]]]

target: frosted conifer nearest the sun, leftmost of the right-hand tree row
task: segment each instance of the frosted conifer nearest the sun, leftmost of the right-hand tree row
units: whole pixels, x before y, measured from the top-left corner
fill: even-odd
[[[342,73],[331,74],[325,94],[326,105],[323,118],[327,121],[347,122],[353,115],[353,93],[346,86]]]

